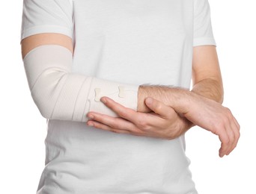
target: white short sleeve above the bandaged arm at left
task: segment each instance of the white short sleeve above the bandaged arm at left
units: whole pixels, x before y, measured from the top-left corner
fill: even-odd
[[[73,0],[23,0],[21,39],[40,33],[73,37]]]

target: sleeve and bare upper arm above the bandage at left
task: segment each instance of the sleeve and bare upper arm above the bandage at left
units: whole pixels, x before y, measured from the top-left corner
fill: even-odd
[[[26,0],[22,10],[22,57],[42,45],[73,50],[73,1]]]

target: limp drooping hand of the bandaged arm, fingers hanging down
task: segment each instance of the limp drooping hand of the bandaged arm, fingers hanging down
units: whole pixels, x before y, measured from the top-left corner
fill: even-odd
[[[227,107],[216,101],[194,96],[189,110],[183,115],[186,119],[219,136],[222,142],[219,156],[228,155],[237,146],[240,138],[240,125]],[[194,101],[196,100],[196,101]]]

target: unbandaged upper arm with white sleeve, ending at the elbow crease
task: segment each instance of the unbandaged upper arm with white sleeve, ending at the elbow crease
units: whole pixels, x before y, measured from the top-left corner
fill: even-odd
[[[211,78],[222,83],[208,0],[194,1],[193,84]]]

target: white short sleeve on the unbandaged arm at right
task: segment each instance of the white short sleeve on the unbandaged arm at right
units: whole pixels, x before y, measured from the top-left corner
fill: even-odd
[[[194,0],[194,35],[193,46],[213,45],[213,28],[210,19],[208,0]]]

